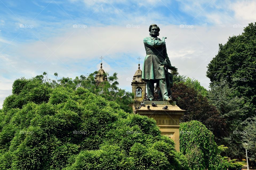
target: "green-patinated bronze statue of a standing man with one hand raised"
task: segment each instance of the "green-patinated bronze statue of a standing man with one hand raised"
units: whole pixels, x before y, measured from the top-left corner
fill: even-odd
[[[160,91],[164,101],[172,101],[171,94],[168,94],[166,83],[166,71],[168,69],[177,71],[177,68],[171,66],[171,62],[166,52],[165,39],[159,39],[160,28],[156,24],[149,26],[150,37],[143,39],[146,57],[142,67],[142,80],[147,82],[147,95],[149,100],[154,98],[154,83],[159,83]],[[165,66],[167,70],[165,70]],[[167,71],[167,75],[168,75]],[[168,81],[169,82],[169,78]],[[170,86],[169,86],[170,87]]]

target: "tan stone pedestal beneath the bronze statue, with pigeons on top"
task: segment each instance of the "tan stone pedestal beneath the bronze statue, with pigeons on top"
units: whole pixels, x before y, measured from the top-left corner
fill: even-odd
[[[153,107],[152,103],[157,104],[157,107]],[[175,101],[144,101],[144,104],[146,107],[135,110],[135,113],[154,118],[162,135],[173,139],[176,144],[175,149],[179,151],[179,119],[184,115],[185,110],[180,109]],[[147,109],[148,105],[149,109]],[[166,105],[168,108],[163,110]]]

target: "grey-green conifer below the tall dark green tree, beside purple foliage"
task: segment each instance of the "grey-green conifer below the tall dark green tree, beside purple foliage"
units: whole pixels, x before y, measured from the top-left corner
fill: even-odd
[[[248,117],[249,107],[244,104],[244,99],[239,98],[234,88],[229,87],[225,80],[211,83],[209,92],[210,103],[216,106],[222,118],[225,118],[227,135],[223,136],[221,143],[229,149],[230,157],[243,157],[241,135],[244,133],[243,121]]]

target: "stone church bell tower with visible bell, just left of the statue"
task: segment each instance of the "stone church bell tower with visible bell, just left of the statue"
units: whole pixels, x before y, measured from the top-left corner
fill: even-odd
[[[140,64],[139,64],[140,66]],[[141,105],[142,100],[145,98],[146,95],[146,82],[144,82],[142,79],[142,71],[140,67],[138,67],[138,70],[135,72],[133,76],[133,82],[131,83],[132,86],[132,92],[135,94],[134,96],[134,107],[139,107]]]

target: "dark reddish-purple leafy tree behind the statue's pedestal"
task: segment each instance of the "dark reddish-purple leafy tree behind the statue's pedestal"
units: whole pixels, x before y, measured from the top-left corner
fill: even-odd
[[[187,86],[183,81],[174,83],[172,88],[173,100],[177,105],[186,110],[181,122],[197,120],[202,122],[207,129],[211,130],[220,141],[226,134],[225,118],[221,118],[218,110],[211,105],[206,97],[203,97],[194,87]]]

